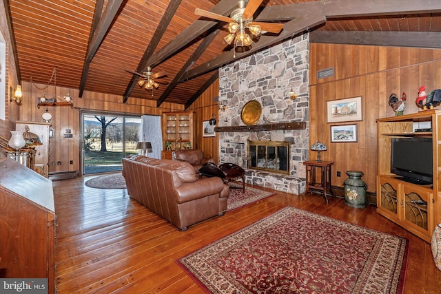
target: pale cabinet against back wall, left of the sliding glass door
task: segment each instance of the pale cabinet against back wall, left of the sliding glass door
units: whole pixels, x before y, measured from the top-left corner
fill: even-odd
[[[32,121],[17,121],[15,129],[25,132],[25,127],[41,138],[42,145],[35,146],[34,170],[46,178],[49,177],[49,129],[50,123],[35,123]],[[43,169],[41,171],[41,169]]]

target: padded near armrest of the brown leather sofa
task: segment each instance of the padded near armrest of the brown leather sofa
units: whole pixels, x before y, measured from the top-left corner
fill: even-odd
[[[205,196],[220,193],[220,197],[227,197],[229,188],[218,177],[201,178],[196,182],[185,182],[183,185],[174,189],[176,194],[176,202],[183,203]]]

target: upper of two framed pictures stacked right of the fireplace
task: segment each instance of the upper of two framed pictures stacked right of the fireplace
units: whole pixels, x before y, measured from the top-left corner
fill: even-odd
[[[328,123],[362,120],[361,96],[327,102]]]

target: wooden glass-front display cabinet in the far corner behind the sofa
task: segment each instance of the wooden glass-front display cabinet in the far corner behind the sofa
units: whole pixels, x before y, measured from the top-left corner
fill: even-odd
[[[194,148],[193,112],[163,113],[163,159],[172,159],[172,151]]]

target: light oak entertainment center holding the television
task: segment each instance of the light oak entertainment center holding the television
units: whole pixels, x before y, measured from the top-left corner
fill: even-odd
[[[423,125],[424,131],[418,132]],[[430,242],[441,222],[441,111],[380,118],[378,128],[377,211]],[[393,138],[432,138],[433,185],[417,185],[391,173]]]

